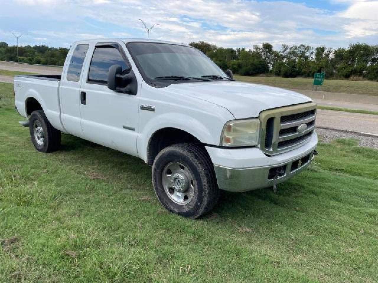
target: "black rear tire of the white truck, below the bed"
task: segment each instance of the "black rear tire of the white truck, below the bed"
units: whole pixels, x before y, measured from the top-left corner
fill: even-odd
[[[34,135],[34,128],[40,126],[43,130],[43,142]],[[31,142],[37,151],[53,152],[60,147],[60,131],[51,126],[43,110],[33,111],[29,119]]]

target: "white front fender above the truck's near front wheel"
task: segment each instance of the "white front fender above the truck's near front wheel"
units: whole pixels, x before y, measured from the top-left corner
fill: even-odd
[[[223,126],[235,117],[226,108],[187,95],[185,91],[155,88],[143,83],[140,105],[153,106],[153,110],[140,108],[138,113],[138,156],[147,162],[149,140],[164,128],[185,131],[208,145],[219,145]]]

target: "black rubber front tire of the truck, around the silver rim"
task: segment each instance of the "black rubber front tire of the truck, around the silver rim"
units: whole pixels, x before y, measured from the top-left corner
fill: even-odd
[[[175,203],[168,196],[169,192],[166,192],[163,185],[163,172],[166,166],[175,162],[181,163],[192,174],[194,193],[187,204]],[[161,204],[170,212],[183,217],[194,219],[206,214],[217,204],[220,195],[210,157],[205,149],[191,143],[179,143],[160,151],[153,162],[152,181]]]

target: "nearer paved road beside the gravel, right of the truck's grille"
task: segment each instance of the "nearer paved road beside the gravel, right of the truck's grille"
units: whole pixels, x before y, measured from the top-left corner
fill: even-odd
[[[318,109],[316,126],[378,134],[378,115]]]

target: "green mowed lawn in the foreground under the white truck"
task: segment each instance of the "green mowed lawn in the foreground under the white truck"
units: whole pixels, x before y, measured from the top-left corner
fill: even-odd
[[[62,135],[37,152],[0,84],[0,282],[376,282],[378,151],[321,144],[271,189],[167,212],[138,158]]]

